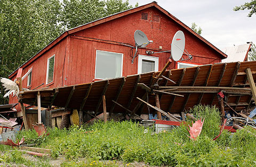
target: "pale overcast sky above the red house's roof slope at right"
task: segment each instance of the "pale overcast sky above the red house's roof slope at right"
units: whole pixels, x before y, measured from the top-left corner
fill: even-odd
[[[133,6],[153,2],[152,0],[129,0]],[[202,36],[219,49],[256,43],[256,15],[247,17],[249,11],[233,11],[233,7],[250,2],[250,0],[158,0],[157,4],[180,21],[191,27],[195,22],[200,26]]]

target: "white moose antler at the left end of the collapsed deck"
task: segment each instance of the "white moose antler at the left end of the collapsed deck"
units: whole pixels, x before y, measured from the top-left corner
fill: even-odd
[[[5,88],[5,91],[9,90],[4,95],[4,97],[9,97],[11,94],[13,96],[18,97],[20,90],[19,90],[19,86],[14,81],[7,79],[7,78],[2,78],[2,77],[1,77],[0,81],[3,83],[3,87]]]

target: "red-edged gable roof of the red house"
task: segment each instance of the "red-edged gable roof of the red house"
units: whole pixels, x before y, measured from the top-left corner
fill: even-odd
[[[23,63],[19,68],[25,68],[29,63],[33,62],[34,60],[36,60],[39,56],[41,56],[43,53],[45,53],[46,51],[48,51],[50,48],[52,48],[54,45],[58,44],[62,39],[66,38],[69,34],[73,34],[75,32],[93,27],[93,26],[97,26],[101,23],[105,23],[107,21],[111,21],[117,18],[121,18],[125,15],[131,14],[131,13],[135,13],[144,9],[148,9],[149,7],[156,7],[156,9],[158,9],[159,11],[163,12],[165,15],[167,15],[170,19],[172,19],[173,21],[177,22],[178,24],[180,24],[180,26],[182,26],[183,28],[185,28],[186,30],[188,30],[189,32],[191,32],[191,34],[195,35],[197,38],[199,38],[200,40],[202,40],[204,43],[206,43],[207,45],[209,45],[211,48],[213,48],[215,51],[217,51],[221,56],[222,59],[225,59],[227,57],[227,55],[225,53],[223,53],[222,51],[220,51],[220,49],[218,49],[217,47],[215,47],[214,45],[212,45],[209,41],[207,41],[206,39],[204,39],[202,36],[198,35],[194,30],[190,29],[186,24],[184,24],[183,22],[181,22],[179,19],[175,18],[175,16],[173,16],[172,14],[170,14],[169,12],[167,12],[166,10],[164,10],[161,6],[159,6],[157,4],[157,2],[153,1],[149,4],[146,5],[142,5],[139,7],[134,7],[132,9],[129,10],[125,10],[119,13],[115,13],[109,16],[106,16],[105,18],[100,18],[98,20],[94,20],[88,23],[85,23],[81,26],[72,28],[67,30],[66,32],[64,32],[63,34],[61,34],[59,37],[57,37],[56,39],[54,39],[49,45],[47,45],[46,47],[44,47],[41,51],[39,51],[38,53],[36,53],[33,57],[31,57],[27,62]],[[18,69],[19,69],[18,68]],[[9,78],[13,77],[15,73],[17,73],[18,69],[16,69],[15,71],[13,71],[10,75]]]

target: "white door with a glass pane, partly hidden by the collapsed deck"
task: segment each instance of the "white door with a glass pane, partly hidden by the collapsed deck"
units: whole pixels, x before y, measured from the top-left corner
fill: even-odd
[[[158,57],[139,55],[138,73],[158,71]]]

